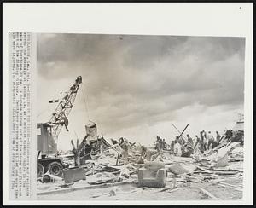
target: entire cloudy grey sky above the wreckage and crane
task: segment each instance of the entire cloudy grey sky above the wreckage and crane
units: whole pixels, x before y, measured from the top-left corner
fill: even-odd
[[[48,101],[81,75],[60,149],[81,140],[89,120],[107,138],[146,144],[156,135],[171,142],[172,124],[189,124],[191,136],[222,132],[243,113],[244,47],[244,38],[40,34],[38,122],[49,121],[56,105]]]

